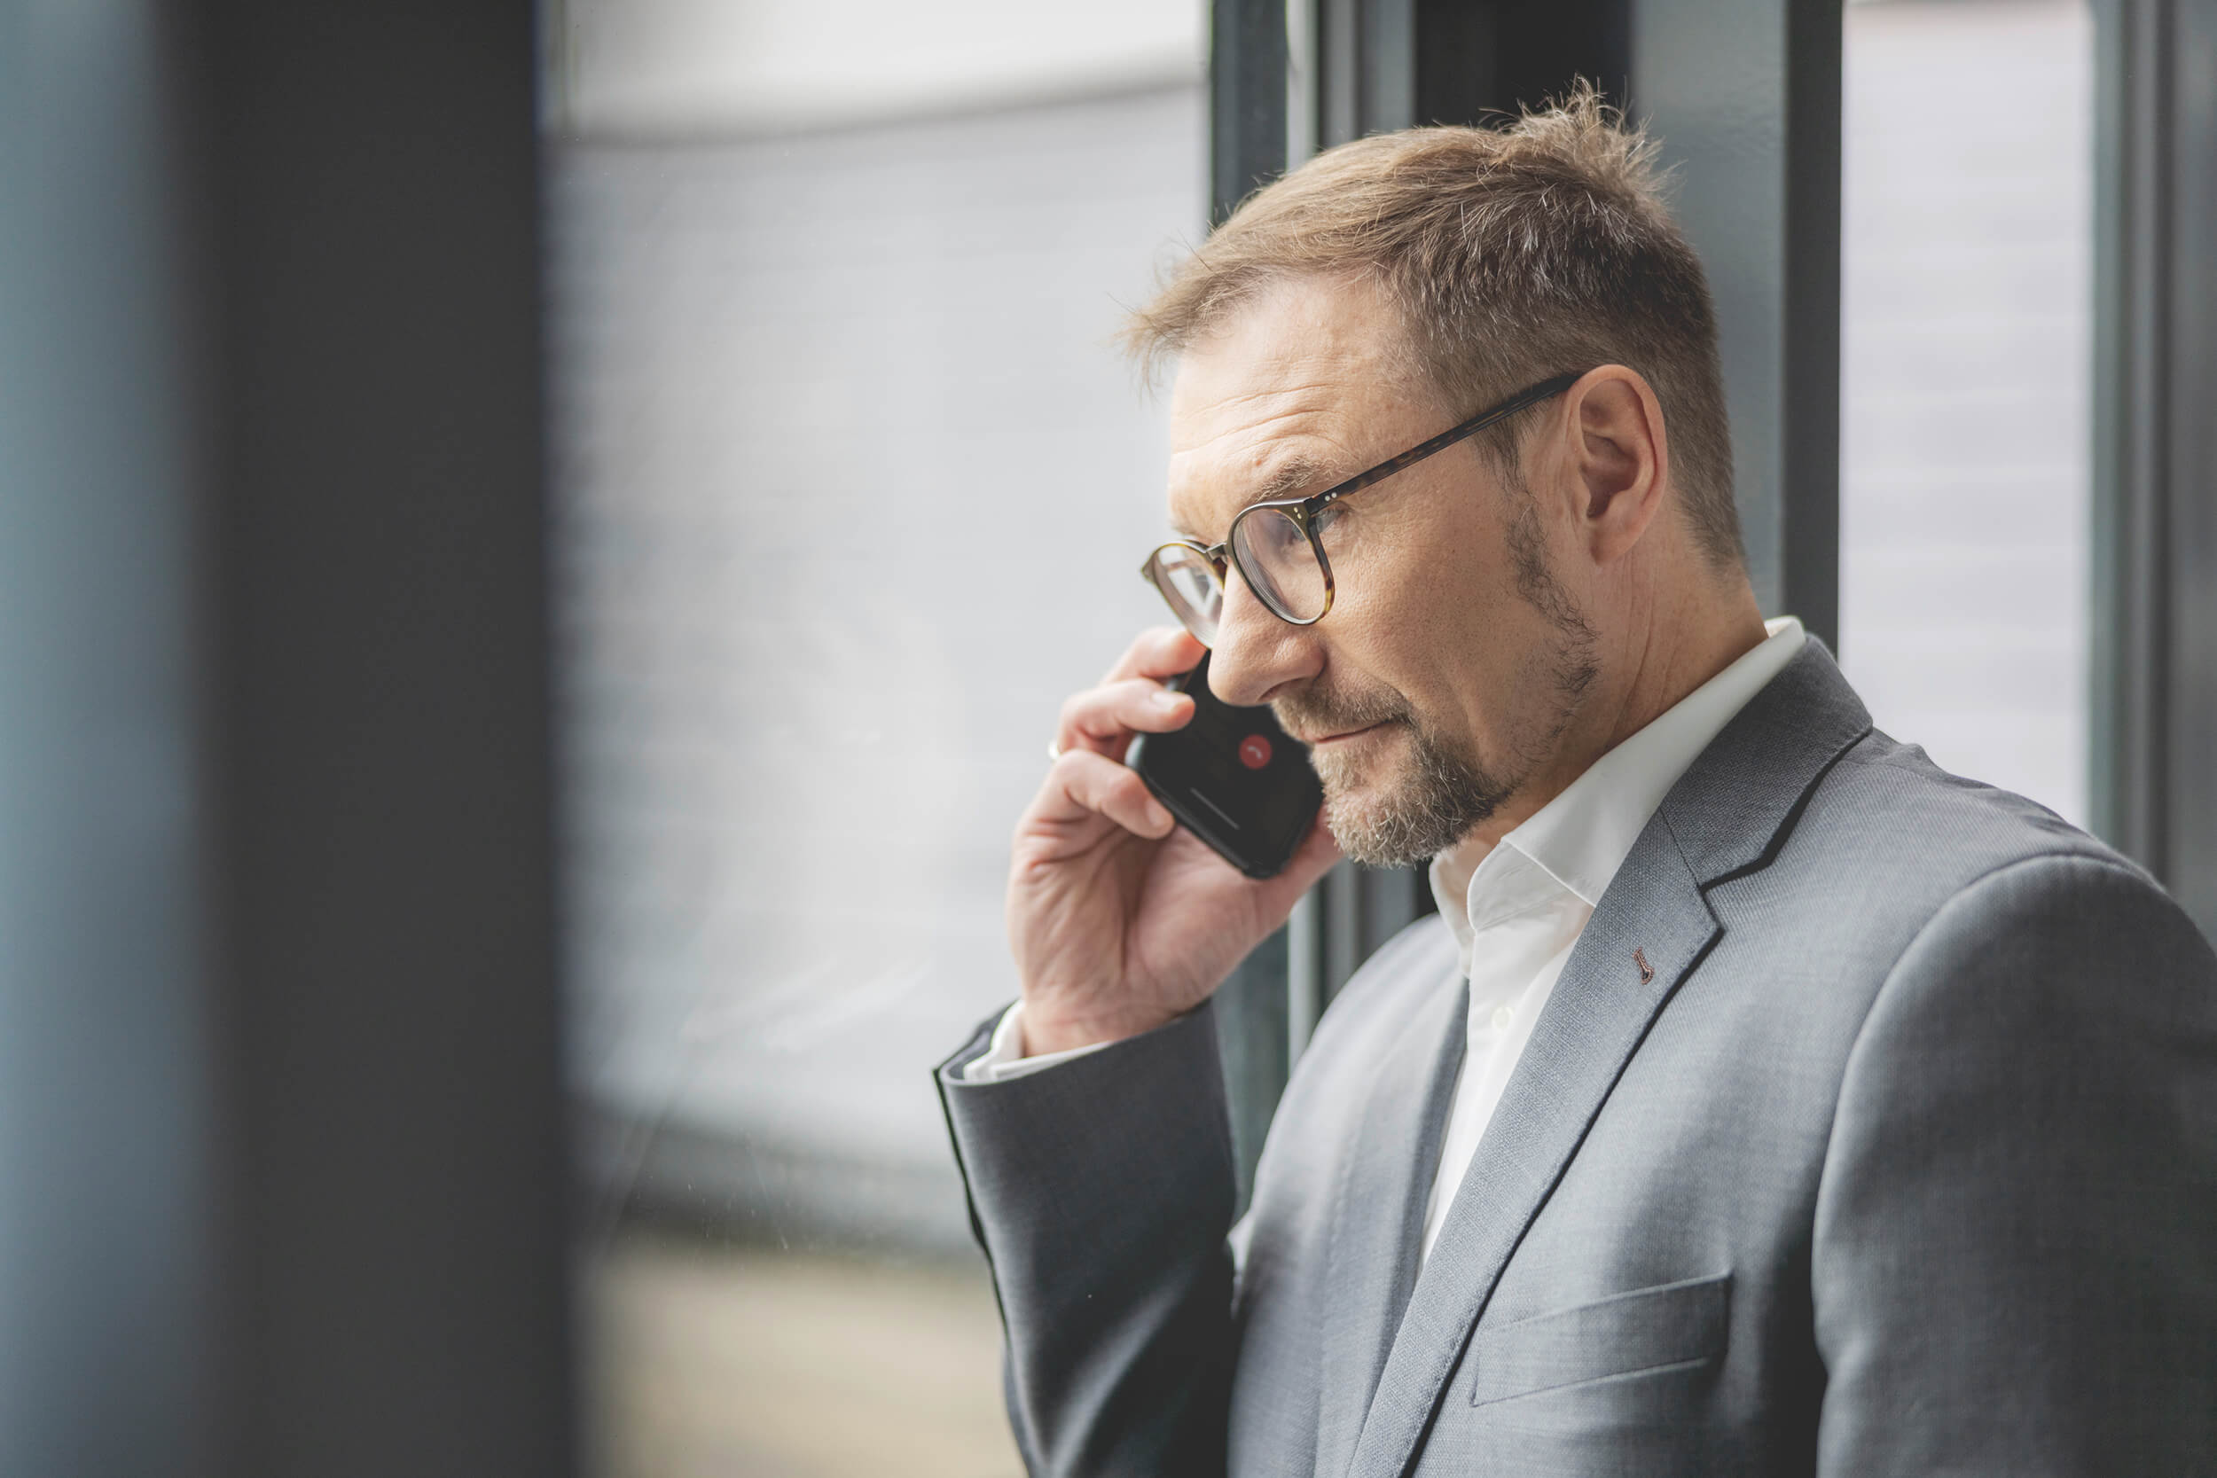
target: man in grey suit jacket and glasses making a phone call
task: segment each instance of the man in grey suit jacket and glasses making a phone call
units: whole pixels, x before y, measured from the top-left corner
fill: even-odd
[[[1066,705],[1022,999],[940,1070],[1031,1469],[2217,1471],[2217,959],[1765,627],[1649,148],[1585,93],[1348,144],[1135,341],[1186,632]],[[1270,882],[1120,764],[1204,640],[1315,745]],[[1441,917],[1233,1232],[1208,993],[1341,851]]]

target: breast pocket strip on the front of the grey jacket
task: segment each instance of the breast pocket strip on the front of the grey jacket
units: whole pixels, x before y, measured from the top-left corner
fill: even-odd
[[[1559,1385],[1689,1365],[1725,1352],[1731,1274],[1636,1287],[1598,1303],[1534,1314],[1470,1338],[1470,1405]]]

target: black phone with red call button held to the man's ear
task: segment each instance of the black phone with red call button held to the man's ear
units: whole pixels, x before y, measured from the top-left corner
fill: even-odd
[[[1124,762],[1219,858],[1248,877],[1277,877],[1324,804],[1308,745],[1279,729],[1268,707],[1219,702],[1208,691],[1208,656],[1166,687],[1193,696],[1193,722],[1137,736]]]

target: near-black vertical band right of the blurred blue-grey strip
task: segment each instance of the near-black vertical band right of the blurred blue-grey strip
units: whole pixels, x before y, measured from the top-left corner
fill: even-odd
[[[532,7],[195,16],[246,1471],[561,1474]]]

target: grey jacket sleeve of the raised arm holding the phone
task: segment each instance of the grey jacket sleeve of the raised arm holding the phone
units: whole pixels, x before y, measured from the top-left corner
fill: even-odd
[[[1217,1476],[1233,1152],[1210,1006],[1044,1072],[938,1068],[1035,1478]]]

